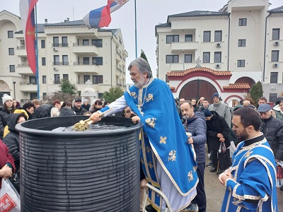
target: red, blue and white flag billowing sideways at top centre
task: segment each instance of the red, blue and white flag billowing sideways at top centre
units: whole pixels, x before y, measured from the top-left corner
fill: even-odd
[[[106,6],[90,11],[84,16],[83,22],[88,26],[88,29],[107,27],[111,22],[110,13],[117,11],[127,1],[129,0],[108,0]]]

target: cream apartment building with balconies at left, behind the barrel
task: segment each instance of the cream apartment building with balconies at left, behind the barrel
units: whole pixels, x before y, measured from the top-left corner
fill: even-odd
[[[66,78],[80,92],[86,82],[102,98],[111,87],[126,88],[126,58],[120,29],[88,30],[83,20],[37,25],[40,98],[59,90]],[[37,97],[37,78],[28,65],[21,18],[0,12],[0,95]],[[1,100],[0,100],[1,101]]]

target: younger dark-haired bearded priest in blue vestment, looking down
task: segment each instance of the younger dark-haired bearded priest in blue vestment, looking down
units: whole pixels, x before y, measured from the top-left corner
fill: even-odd
[[[233,154],[233,165],[219,175],[226,186],[221,211],[278,211],[275,157],[260,132],[260,115],[243,107],[233,112],[232,123],[242,142]]]

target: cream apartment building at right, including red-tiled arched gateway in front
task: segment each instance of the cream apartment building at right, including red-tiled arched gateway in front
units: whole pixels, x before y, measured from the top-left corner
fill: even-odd
[[[261,81],[274,101],[283,90],[283,6],[269,6],[268,0],[231,0],[219,11],[168,16],[156,25],[158,78],[176,98],[218,92],[227,102],[243,99]]]

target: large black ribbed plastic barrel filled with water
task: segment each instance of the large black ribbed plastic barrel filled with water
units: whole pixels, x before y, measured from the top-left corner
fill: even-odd
[[[21,211],[139,211],[139,129],[131,119],[105,117],[109,131],[50,131],[83,116],[18,124]],[[122,124],[121,124],[122,123]]]

